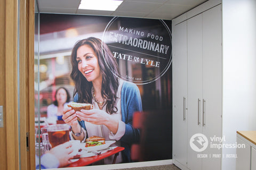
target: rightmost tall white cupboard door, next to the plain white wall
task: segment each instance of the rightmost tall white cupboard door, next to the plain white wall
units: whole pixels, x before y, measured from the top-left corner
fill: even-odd
[[[203,134],[209,140],[204,151],[203,169],[221,169],[221,158],[212,158],[221,154],[221,149],[211,148],[214,137],[221,138],[221,6],[215,6],[202,14],[203,16]]]

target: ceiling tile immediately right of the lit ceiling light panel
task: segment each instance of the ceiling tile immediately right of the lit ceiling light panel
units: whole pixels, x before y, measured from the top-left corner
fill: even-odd
[[[123,2],[116,11],[149,13],[159,6],[159,3]]]

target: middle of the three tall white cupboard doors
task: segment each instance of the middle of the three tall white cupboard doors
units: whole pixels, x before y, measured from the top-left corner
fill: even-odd
[[[202,158],[189,145],[190,138],[202,133],[202,96],[203,96],[203,45],[202,45],[202,14],[187,21],[188,37],[188,155],[187,167],[191,170],[202,169]]]

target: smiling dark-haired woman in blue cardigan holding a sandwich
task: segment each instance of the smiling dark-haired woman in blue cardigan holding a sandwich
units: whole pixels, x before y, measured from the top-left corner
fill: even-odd
[[[138,87],[116,77],[119,71],[115,58],[98,38],[78,41],[71,53],[71,63],[74,101],[93,105],[93,109],[81,112],[70,107],[64,110],[62,118],[71,126],[73,138],[83,142],[96,135],[106,141],[116,140],[114,145],[125,148],[116,163],[130,162],[131,145],[140,138],[139,130],[132,127],[133,113],[142,111]],[[82,121],[77,121],[77,117]],[[105,164],[112,160],[105,159]]]

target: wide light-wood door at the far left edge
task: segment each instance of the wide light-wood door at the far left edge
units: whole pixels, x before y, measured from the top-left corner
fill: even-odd
[[[0,105],[3,106],[3,128],[0,128],[1,169],[19,168],[18,96],[17,96],[17,2],[0,2]]]

